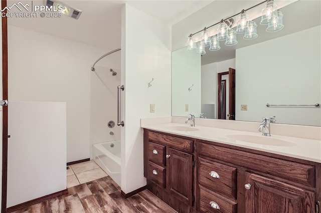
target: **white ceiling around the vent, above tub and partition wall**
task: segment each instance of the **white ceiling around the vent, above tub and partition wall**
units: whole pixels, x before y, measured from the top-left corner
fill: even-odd
[[[178,22],[213,0],[61,0],[82,10],[79,19],[8,18],[8,24],[112,50],[120,47],[121,8],[124,3],[144,11],[169,25]],[[8,0],[12,5],[17,0]],[[43,0],[24,0],[44,5]]]

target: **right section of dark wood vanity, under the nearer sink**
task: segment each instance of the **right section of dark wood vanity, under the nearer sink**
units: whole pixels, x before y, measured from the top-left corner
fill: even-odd
[[[316,212],[321,198],[319,163],[196,142],[200,212]]]

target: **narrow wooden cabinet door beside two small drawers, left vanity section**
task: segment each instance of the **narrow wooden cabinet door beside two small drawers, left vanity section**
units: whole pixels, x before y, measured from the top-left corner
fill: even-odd
[[[193,191],[193,155],[168,149],[168,186],[173,195],[183,202],[192,205]]]

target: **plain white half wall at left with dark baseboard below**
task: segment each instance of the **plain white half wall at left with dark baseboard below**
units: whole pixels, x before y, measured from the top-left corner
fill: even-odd
[[[10,101],[7,206],[66,189],[66,103]]]

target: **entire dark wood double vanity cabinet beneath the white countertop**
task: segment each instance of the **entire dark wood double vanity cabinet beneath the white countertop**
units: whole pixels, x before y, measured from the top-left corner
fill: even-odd
[[[320,212],[320,163],[145,129],[144,166],[178,212]]]

